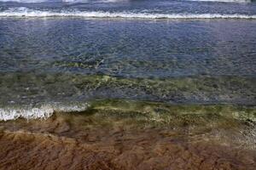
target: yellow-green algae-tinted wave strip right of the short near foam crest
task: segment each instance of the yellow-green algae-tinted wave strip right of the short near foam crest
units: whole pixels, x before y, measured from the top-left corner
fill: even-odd
[[[88,111],[78,113],[98,125],[233,128],[256,125],[255,106],[170,105],[125,99],[90,102]],[[88,124],[88,122],[86,122]]]

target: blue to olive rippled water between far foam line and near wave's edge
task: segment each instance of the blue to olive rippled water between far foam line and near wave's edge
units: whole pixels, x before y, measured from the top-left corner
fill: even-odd
[[[254,20],[1,23],[1,105],[100,98],[255,105]]]

